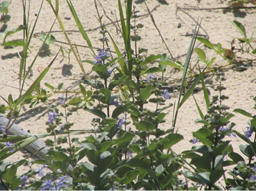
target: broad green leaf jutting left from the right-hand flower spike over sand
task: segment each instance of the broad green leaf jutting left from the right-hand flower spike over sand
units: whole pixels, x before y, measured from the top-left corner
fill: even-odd
[[[214,136],[210,129],[201,128],[198,131],[193,132],[193,137],[196,137],[204,145],[208,145],[210,147],[213,145]]]

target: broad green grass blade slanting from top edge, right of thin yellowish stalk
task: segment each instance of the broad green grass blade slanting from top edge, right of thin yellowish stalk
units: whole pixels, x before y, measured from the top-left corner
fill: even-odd
[[[76,10],[74,9],[74,6],[73,6],[71,0],[66,0],[66,1],[67,1],[67,3],[68,3],[68,7],[69,7],[69,9],[71,10],[71,13],[72,13],[72,15],[73,15],[74,21],[76,21],[77,27],[78,27],[78,29],[79,29],[79,31],[80,31],[82,37],[85,39],[85,41],[86,41],[86,43],[88,44],[90,50],[91,50],[91,51],[93,52],[93,54],[95,55],[95,52],[93,51],[93,46],[92,46],[92,44],[91,44],[91,42],[90,42],[90,39],[89,39],[87,33],[85,32],[85,29],[84,29],[84,27],[82,26],[82,23],[81,23],[81,21],[79,20],[79,17],[77,16],[77,12],[76,12]]]

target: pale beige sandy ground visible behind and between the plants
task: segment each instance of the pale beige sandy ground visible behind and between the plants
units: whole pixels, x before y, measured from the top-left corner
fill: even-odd
[[[93,0],[88,1],[79,1],[73,0],[75,9],[77,10],[77,15],[82,21],[82,24],[86,30],[94,29],[99,27],[99,22],[96,19],[96,9],[94,6]],[[189,17],[185,12],[181,10],[177,10],[177,6],[179,7],[195,7],[195,8],[213,8],[213,7],[228,7],[230,4],[228,1],[185,1],[185,0],[167,0],[166,3],[150,0],[147,1],[149,6],[149,10],[153,10],[159,3],[160,6],[157,6],[157,9],[152,12],[154,16],[155,23],[157,27],[160,29],[161,35],[163,35],[164,40],[166,40],[166,44],[168,48],[171,50],[171,54],[173,57],[182,56],[188,51],[188,46],[191,41],[191,36],[186,36],[186,34],[193,33],[193,29],[195,27],[196,22],[193,21],[192,18],[202,20],[202,28],[205,29],[207,35],[210,37],[210,41],[212,43],[221,43],[222,47],[230,48],[230,42],[235,37],[241,37],[241,34],[235,29],[235,26],[232,25],[232,21],[239,21],[246,27],[247,35],[251,35],[252,32],[256,29],[255,22],[255,13],[254,9],[241,9],[241,10],[185,10]],[[117,1],[106,1],[101,0],[102,7],[108,17],[110,17],[113,21],[115,21],[115,13],[118,14]],[[143,3],[135,4],[138,10],[140,10],[140,14],[147,14],[146,7]],[[252,6],[249,4],[248,6]],[[38,12],[40,7],[40,0],[31,1],[30,7],[30,18],[29,21],[33,24],[35,21],[35,14]],[[102,7],[99,6],[99,12],[103,15]],[[22,24],[22,1],[16,0],[10,4],[9,7],[10,21],[7,22],[7,29],[15,29],[18,25]],[[60,2],[60,17],[63,20],[63,24],[66,30],[77,30],[76,23],[72,18],[71,12],[68,9],[68,4],[65,1]],[[67,19],[68,18],[68,19]],[[71,19],[69,19],[71,18]],[[104,24],[111,23],[105,16],[103,16]],[[47,1],[43,3],[42,12],[40,13],[40,17],[38,20],[38,24],[35,28],[35,32],[47,32],[49,31],[51,25],[54,22],[54,14],[51,11],[51,8]],[[139,47],[148,48],[149,54],[168,54],[168,50],[166,46],[163,44],[157,29],[155,29],[152,24],[152,20],[149,15],[146,15],[140,18],[140,22],[144,25],[144,28],[141,29],[139,35],[142,36],[142,40],[139,43]],[[0,25],[1,26],[1,25]],[[180,27],[179,27],[180,26]],[[52,29],[53,31],[60,30],[59,24],[56,23]],[[113,38],[118,43],[118,46],[122,47],[122,40],[120,38],[121,34],[118,30],[110,24],[107,26],[107,30],[113,35]],[[200,29],[199,34],[206,35],[206,33]],[[15,40],[22,38],[22,32],[18,32],[15,35],[8,37],[7,40]],[[54,37],[57,39],[57,43],[54,43],[50,46],[51,54],[48,56],[45,52],[40,53],[40,57],[35,63],[33,68],[32,76],[26,81],[27,84],[32,84],[33,80],[39,75],[42,68],[45,68],[49,62],[54,58],[55,54],[59,50],[60,46],[68,49],[63,43],[66,42],[65,37],[62,32],[54,32]],[[100,47],[100,43],[98,41],[99,29],[92,30],[88,32],[90,40],[93,43],[93,47]],[[86,46],[85,40],[83,40],[82,35],[79,32],[68,32],[68,36],[71,38],[72,43],[76,43],[77,45]],[[1,37],[1,41],[3,37]],[[235,41],[235,48],[239,48],[238,40]],[[41,41],[37,37],[32,38],[31,43],[31,53],[29,53],[27,58],[27,65],[32,63],[35,54],[37,54],[38,48],[41,45]],[[255,46],[255,43],[253,43]],[[222,65],[227,65],[227,61],[223,60],[221,57],[218,57],[214,51],[205,48],[202,44],[199,45],[200,48],[204,49],[207,58],[217,57],[216,61],[213,63],[213,67],[218,67]],[[82,60],[94,60],[90,50],[85,47],[79,47],[79,55]],[[4,98],[7,98],[9,94],[12,94],[14,98],[18,96],[18,73],[19,73],[19,57],[18,52],[21,51],[20,47],[16,48],[4,48],[0,46],[0,95]],[[235,54],[238,60],[244,60],[242,62],[243,65],[246,65],[248,69],[246,71],[237,71],[236,68],[240,66],[239,63],[235,65],[231,65],[229,67],[225,67],[223,69],[227,81],[224,82],[224,85],[227,87],[227,90],[224,91],[225,95],[228,95],[230,99],[225,101],[230,107],[230,112],[232,112],[235,108],[245,109],[248,112],[255,113],[253,110],[254,101],[252,98],[255,96],[256,84],[255,84],[255,61],[246,61],[247,59],[252,59],[253,57],[248,57],[247,54],[241,54],[238,50]],[[82,82],[82,71],[79,68],[76,60],[73,55],[71,56],[71,60],[68,60],[68,54],[64,53],[64,55],[59,54],[57,60],[51,67],[49,73],[47,73],[45,79],[41,83],[43,88],[44,83],[47,82],[54,87],[57,87],[57,84],[60,82],[64,83],[64,90],[78,90],[78,84]],[[254,57],[255,58],[255,57]],[[179,61],[184,63],[185,57],[180,57]],[[193,54],[191,65],[196,65],[196,54]],[[204,64],[200,63],[203,67]],[[91,65],[84,63],[84,68],[88,75],[90,76],[90,68]],[[175,71],[172,68],[168,68],[166,72],[166,77],[171,80],[180,79],[182,73]],[[205,76],[206,85],[211,92],[211,95],[214,95],[214,84],[215,84],[215,76],[213,73],[207,74]],[[179,81],[176,80],[175,84],[179,84]],[[198,87],[200,90],[200,86]],[[48,89],[47,89],[48,90]],[[46,104],[38,104],[37,107],[29,109],[28,106],[24,107],[21,110],[21,115],[17,119],[16,123],[18,126],[21,126],[23,129],[30,130],[32,134],[40,134],[46,131],[46,121],[48,120],[48,109],[51,104],[57,104],[57,97],[60,95],[55,95],[53,98],[50,98],[49,102]],[[69,98],[72,98],[77,95],[68,95]],[[199,91],[199,93],[195,94],[195,98],[198,101],[202,111],[205,113],[205,103],[203,102],[203,93]],[[169,102],[174,103],[177,101],[177,96],[174,95]],[[4,104],[3,100],[0,100],[1,104]],[[150,106],[149,106],[150,107]],[[169,129],[171,128],[172,121],[172,112],[173,108],[168,109],[169,115],[166,116],[167,123],[164,123],[160,128]],[[71,117],[71,121],[75,122],[74,129],[92,129],[90,126],[90,120],[93,118],[88,112],[83,110],[79,110],[79,112],[74,112],[74,115]],[[191,148],[191,143],[189,140],[193,137],[192,132],[199,129],[200,125],[196,124],[194,121],[199,118],[199,113],[197,112],[196,105],[193,101],[193,98],[189,98],[188,101],[182,106],[179,110],[178,120],[177,120],[177,129],[180,134],[182,134],[185,139],[182,140],[181,143],[174,147],[174,150],[178,153],[184,151],[185,149]],[[235,115],[232,118],[232,122],[236,123],[234,129],[243,132],[246,130],[246,121],[247,118],[243,118],[241,115]],[[232,144],[236,151],[238,151],[238,145],[241,141],[238,138],[232,138]],[[21,154],[15,155],[15,158],[12,158],[14,161],[21,159]]]

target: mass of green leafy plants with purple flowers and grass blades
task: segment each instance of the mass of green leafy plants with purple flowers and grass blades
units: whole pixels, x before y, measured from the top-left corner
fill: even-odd
[[[21,56],[20,95],[15,99],[10,94],[8,98],[3,98],[7,105],[0,106],[1,113],[8,111],[7,116],[10,118],[10,123],[18,116],[19,110],[24,104],[35,107],[40,101],[46,102],[51,95],[57,93],[65,95],[59,97],[59,104],[49,108],[46,122],[47,133],[45,134],[27,137],[10,136],[6,134],[10,126],[1,126],[3,133],[0,136],[2,138],[0,140],[1,190],[43,190],[46,188],[48,190],[95,191],[199,190],[199,187],[200,190],[221,190],[222,188],[218,186],[218,181],[221,178],[224,179],[227,189],[230,187],[229,190],[255,189],[256,167],[253,159],[256,156],[256,143],[255,137],[254,139],[251,137],[252,134],[256,136],[256,118],[255,115],[243,109],[235,109],[234,112],[249,117],[249,127],[243,133],[232,130],[235,123],[230,123],[230,119],[234,115],[227,112],[229,107],[224,105],[224,101],[228,98],[223,95],[223,90],[225,90],[223,86],[224,73],[216,73],[218,85],[215,90],[217,95],[213,95],[210,100],[203,73],[206,68],[211,68],[216,57],[207,59],[205,51],[201,48],[195,49],[199,60],[204,62],[206,67],[203,71],[199,68],[199,75],[185,91],[185,87],[188,85],[187,75],[192,75],[188,69],[196,42],[197,25],[184,64],[169,60],[166,54],[145,57],[142,53],[146,49],[138,48],[141,40],[138,32],[143,28],[143,24],[137,22],[138,10],[135,6],[132,7],[132,0],[128,0],[124,6],[124,12],[124,7],[118,0],[125,52],[121,54],[110,32],[107,32],[106,26],[102,24],[102,17],[99,16],[102,48],[97,48],[98,55],[96,55],[73,4],[67,0],[79,32],[96,59],[80,61],[60,19],[59,1],[55,1],[55,8],[50,0],[47,1],[57,17],[82,71],[84,72],[81,63],[89,63],[93,65],[93,76],[91,79],[85,79],[86,87],[79,84],[79,91],[74,92],[79,94],[69,100],[68,94],[71,92],[62,91],[63,83],[57,87],[46,83],[45,86],[51,90],[51,93],[47,93],[40,87],[40,82],[51,68],[56,55],[48,67],[35,79],[35,82],[27,90],[24,90],[24,83],[28,76],[28,73],[24,71],[26,56],[35,25],[29,33],[29,24],[24,19],[22,27],[19,26],[18,29],[6,32],[5,38],[21,30],[26,32],[26,37],[21,42],[15,42],[24,48]],[[97,11],[100,15],[99,10]],[[26,11],[24,10],[24,12]],[[251,43],[252,39],[247,39],[244,26],[237,21],[234,21],[233,24],[243,35],[243,39],[240,40],[247,44]],[[110,48],[106,48],[108,47],[108,38],[113,43],[116,57]],[[40,39],[43,44],[48,46],[55,41],[50,32],[48,35],[41,32]],[[221,47],[220,43],[213,45],[209,40],[203,38],[197,38],[197,40],[231,62],[230,58],[225,57],[226,50]],[[12,44],[5,42],[3,46],[7,46],[8,43]],[[13,44],[15,45],[15,43]],[[35,60],[29,67],[32,68]],[[150,67],[152,62],[159,62],[158,67]],[[166,105],[166,100],[171,97],[171,93],[167,89],[163,89],[168,85],[168,79],[164,76],[167,66],[182,71],[182,84],[177,108],[175,108],[173,127],[163,130],[163,123],[166,122],[168,115],[166,111],[173,106],[173,104]],[[162,78],[155,77],[153,73],[162,74]],[[149,75],[147,78],[146,74]],[[196,143],[198,145],[193,145],[190,150],[183,151],[182,154],[176,154],[172,147],[184,139],[182,134],[178,134],[174,129],[178,110],[193,95],[193,90],[199,80],[202,82],[207,108],[207,114],[204,115],[194,98],[201,117],[196,120],[196,123],[202,123],[202,128],[193,132],[191,143],[199,142],[199,144]],[[149,104],[152,109],[146,109],[149,108]],[[69,111],[74,111],[74,109],[76,111],[84,109],[94,115],[91,121],[91,130],[75,131],[72,129],[74,123],[70,121],[69,116],[72,115],[72,112]],[[85,133],[90,133],[90,135],[86,134],[82,140],[76,136]],[[51,137],[45,141],[49,150],[44,159],[32,159],[31,162],[22,159],[16,163],[5,161],[26,145],[39,138],[49,136]],[[240,145],[244,157],[233,151],[231,141],[227,140],[227,137],[230,136],[238,136],[245,141],[245,145]],[[18,168],[22,165],[28,165],[29,170],[24,175],[18,176]],[[40,165],[40,167],[35,168],[35,165]],[[235,167],[228,171],[226,167],[231,165]],[[226,176],[227,173],[229,173],[229,177]],[[30,178],[33,179],[32,184],[28,183],[27,179]],[[185,181],[180,181],[180,179],[185,179]]]

